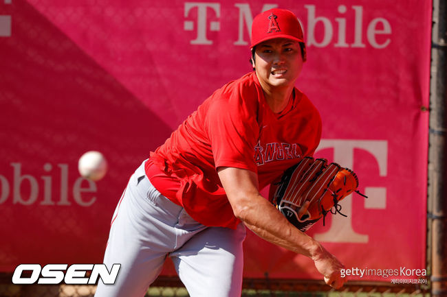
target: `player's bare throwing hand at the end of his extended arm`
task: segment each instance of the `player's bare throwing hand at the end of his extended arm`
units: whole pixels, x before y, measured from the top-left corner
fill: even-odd
[[[323,248],[323,246],[320,247],[321,249],[316,257],[312,257],[315,267],[320,274],[323,274],[327,285],[334,289],[340,289],[347,282],[347,278],[342,277],[340,272],[345,266],[333,254]]]

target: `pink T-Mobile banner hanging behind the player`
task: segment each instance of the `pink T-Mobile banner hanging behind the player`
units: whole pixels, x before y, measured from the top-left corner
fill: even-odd
[[[303,25],[296,85],[323,118],[316,156],[356,171],[369,195],[351,195],[347,218],[308,234],[352,279],[415,278],[426,261],[432,9],[415,0],[3,1],[0,271],[102,261],[133,170],[216,88],[252,70],[248,28],[272,7]],[[88,150],[109,162],[98,182],[77,171]],[[246,277],[320,279],[312,261],[250,232],[244,248]],[[175,273],[170,262],[163,273]]]

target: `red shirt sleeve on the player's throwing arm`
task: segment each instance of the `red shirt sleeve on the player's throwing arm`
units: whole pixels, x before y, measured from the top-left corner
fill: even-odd
[[[215,93],[206,115],[215,167],[237,167],[257,173],[254,145],[259,139],[257,90],[239,86]]]

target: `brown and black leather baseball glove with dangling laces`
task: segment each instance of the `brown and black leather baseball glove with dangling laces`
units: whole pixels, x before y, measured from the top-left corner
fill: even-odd
[[[347,195],[356,192],[367,198],[357,188],[358,178],[351,169],[337,163],[327,165],[324,158],[305,157],[285,171],[273,203],[289,222],[305,232],[322,217],[324,225],[329,212],[340,213],[338,202]]]

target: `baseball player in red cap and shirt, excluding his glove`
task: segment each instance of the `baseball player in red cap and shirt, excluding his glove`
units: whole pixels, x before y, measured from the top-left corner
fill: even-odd
[[[294,86],[302,29],[275,8],[254,18],[251,41],[254,71],[215,91],[131,176],[104,259],[120,272],[96,297],[144,296],[166,257],[190,296],[241,296],[246,227],[312,259],[332,287],[345,282],[342,264],[259,193],[320,141],[320,115]]]

